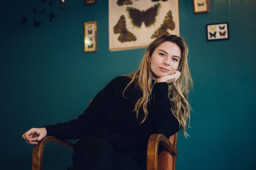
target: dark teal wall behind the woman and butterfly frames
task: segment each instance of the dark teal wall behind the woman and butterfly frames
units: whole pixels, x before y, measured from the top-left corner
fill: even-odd
[[[192,0],[179,1],[195,113],[191,137],[178,136],[177,169],[255,169],[256,1],[209,1],[210,13],[198,15]],[[45,7],[47,15],[31,14],[33,7]],[[52,22],[50,12],[55,14]],[[26,25],[19,24],[21,14]],[[0,19],[0,169],[31,169],[33,147],[22,133],[76,118],[112,78],[135,71],[145,49],[108,50],[105,0],[92,6],[68,1],[64,10],[56,0],[52,6],[40,0],[1,0]],[[42,21],[40,27],[33,27],[34,19]],[[97,52],[83,52],[88,21],[97,21]],[[230,39],[207,42],[206,24],[220,22],[229,22]],[[61,146],[48,144],[44,154],[45,169],[72,164],[72,152]]]

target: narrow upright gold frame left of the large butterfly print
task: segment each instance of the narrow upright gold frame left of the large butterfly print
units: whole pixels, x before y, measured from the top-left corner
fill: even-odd
[[[84,52],[97,51],[97,21],[84,23]]]

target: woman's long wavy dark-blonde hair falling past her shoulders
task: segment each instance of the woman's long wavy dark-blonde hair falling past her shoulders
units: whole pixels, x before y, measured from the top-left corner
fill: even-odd
[[[164,42],[172,42],[177,44],[182,52],[177,69],[180,71],[181,75],[175,83],[168,84],[168,98],[170,99],[172,114],[174,114],[175,118],[178,119],[180,127],[182,128],[182,133],[185,137],[187,137],[188,134],[186,132],[186,128],[189,127],[191,110],[190,103],[188,102],[188,92],[192,89],[193,82],[187,62],[188,46],[184,38],[176,35],[163,35],[149,44],[147,51],[141,60],[139,70],[133,72],[131,75],[125,75],[131,78],[131,82],[127,84],[124,91],[134,81],[135,87],[139,87],[141,90],[142,96],[137,100],[134,111],[136,111],[138,118],[139,110],[140,108],[143,108],[145,114],[144,119],[141,122],[143,123],[148,117],[147,106],[149,101],[152,99],[153,85],[157,82],[155,81],[155,83],[152,84],[152,71],[148,58],[151,58],[153,51],[155,51],[155,49]],[[148,51],[149,54],[147,55]]]

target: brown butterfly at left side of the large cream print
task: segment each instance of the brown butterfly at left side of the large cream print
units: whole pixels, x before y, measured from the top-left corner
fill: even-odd
[[[128,42],[128,41],[136,41],[135,35],[133,35],[131,32],[127,31],[126,29],[126,22],[124,15],[121,15],[119,21],[114,27],[114,33],[119,35],[118,40],[123,43],[123,42]]]

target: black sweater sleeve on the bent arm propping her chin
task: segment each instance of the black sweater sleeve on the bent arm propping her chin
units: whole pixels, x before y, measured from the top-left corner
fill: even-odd
[[[151,114],[153,118],[153,133],[161,133],[166,137],[170,137],[180,130],[179,121],[171,111],[168,84],[166,82],[154,84]]]

